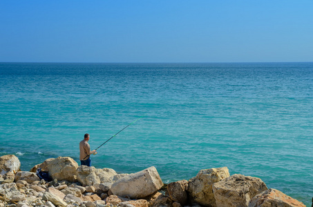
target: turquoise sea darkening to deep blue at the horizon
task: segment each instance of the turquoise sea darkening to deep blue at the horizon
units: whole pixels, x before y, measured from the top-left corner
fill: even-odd
[[[168,184],[227,166],[312,204],[312,62],[0,63],[0,97],[0,156],[21,170],[80,164],[88,133],[91,149],[112,138],[95,168]]]

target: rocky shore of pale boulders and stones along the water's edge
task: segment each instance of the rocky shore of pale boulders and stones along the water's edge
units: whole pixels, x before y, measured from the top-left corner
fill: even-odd
[[[163,184],[155,167],[132,174],[78,166],[70,157],[46,159],[21,171],[15,155],[0,157],[0,207],[26,206],[305,206],[258,177],[229,175],[227,167],[200,170],[196,177]],[[39,179],[37,169],[52,181]],[[40,169],[38,172],[41,171]]]

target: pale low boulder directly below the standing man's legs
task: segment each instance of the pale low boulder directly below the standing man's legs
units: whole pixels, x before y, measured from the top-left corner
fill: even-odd
[[[115,175],[117,173],[111,168],[97,169],[93,166],[79,166],[77,168],[77,180],[83,186],[112,182]]]

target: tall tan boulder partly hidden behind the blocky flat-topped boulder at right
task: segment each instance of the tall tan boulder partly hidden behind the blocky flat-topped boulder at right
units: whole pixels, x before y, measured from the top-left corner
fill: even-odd
[[[229,177],[227,167],[200,170],[196,177],[189,179],[188,193],[192,202],[201,206],[216,206],[213,184]]]

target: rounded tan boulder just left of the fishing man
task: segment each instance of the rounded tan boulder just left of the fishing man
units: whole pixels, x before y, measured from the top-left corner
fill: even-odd
[[[57,180],[76,181],[77,168],[77,162],[70,157],[57,157],[48,162],[49,175]]]

